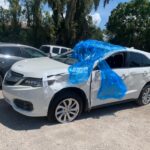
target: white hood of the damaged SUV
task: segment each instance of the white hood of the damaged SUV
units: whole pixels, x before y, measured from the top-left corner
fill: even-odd
[[[68,72],[69,65],[50,59],[48,57],[25,59],[15,63],[11,70],[25,77],[43,78]]]

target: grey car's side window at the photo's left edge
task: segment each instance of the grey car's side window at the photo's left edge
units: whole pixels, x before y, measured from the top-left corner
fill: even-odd
[[[21,51],[19,47],[0,47],[0,54],[10,55],[10,56],[21,56]]]

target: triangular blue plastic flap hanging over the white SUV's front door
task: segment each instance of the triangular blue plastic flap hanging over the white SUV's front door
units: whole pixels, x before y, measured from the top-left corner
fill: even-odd
[[[101,70],[101,87],[97,97],[100,99],[121,99],[127,91],[123,80],[109,67],[106,61],[99,63]]]

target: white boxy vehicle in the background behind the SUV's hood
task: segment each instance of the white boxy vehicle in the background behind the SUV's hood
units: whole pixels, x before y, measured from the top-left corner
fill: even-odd
[[[53,57],[53,56],[66,53],[70,51],[71,49],[67,47],[62,47],[62,46],[56,46],[56,45],[42,45],[40,47],[40,50],[48,54],[50,57]]]

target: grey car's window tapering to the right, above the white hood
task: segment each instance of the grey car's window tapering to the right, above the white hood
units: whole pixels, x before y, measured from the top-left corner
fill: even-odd
[[[43,52],[28,47],[22,49],[22,55],[24,58],[46,57],[46,54]]]

